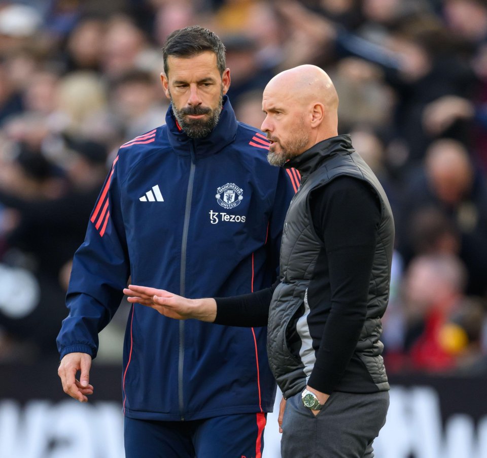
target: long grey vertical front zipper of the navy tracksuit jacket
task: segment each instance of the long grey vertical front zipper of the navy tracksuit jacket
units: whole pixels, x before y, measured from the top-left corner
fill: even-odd
[[[189,172],[188,190],[186,192],[186,207],[184,212],[183,240],[181,242],[181,273],[180,273],[180,295],[186,293],[186,250],[188,247],[189,219],[191,216],[191,201],[193,199],[193,182],[195,170],[194,145],[190,143],[191,169]],[[184,395],[183,395],[183,367],[184,367],[184,320],[179,322],[179,362],[178,362],[178,396],[179,412],[181,420],[184,421]]]

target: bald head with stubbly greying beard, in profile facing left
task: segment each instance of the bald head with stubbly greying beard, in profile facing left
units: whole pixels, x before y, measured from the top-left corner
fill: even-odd
[[[268,159],[283,165],[311,146],[338,135],[338,95],[319,67],[302,65],[274,76],[264,89],[262,130],[271,140]]]

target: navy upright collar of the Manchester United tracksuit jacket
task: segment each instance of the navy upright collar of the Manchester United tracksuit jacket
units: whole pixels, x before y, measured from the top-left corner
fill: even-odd
[[[181,156],[197,157],[210,156],[218,153],[235,140],[237,120],[235,113],[226,95],[223,96],[223,108],[218,124],[212,132],[204,138],[192,139],[176,122],[172,113],[172,104],[166,113],[167,137],[171,148]]]

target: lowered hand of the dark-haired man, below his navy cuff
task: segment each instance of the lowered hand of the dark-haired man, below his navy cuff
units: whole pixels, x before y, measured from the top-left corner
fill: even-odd
[[[93,394],[93,386],[89,384],[90,368],[91,356],[87,353],[68,353],[61,359],[57,374],[66,395],[80,402],[88,402],[88,396]],[[78,371],[79,380],[75,378]]]

